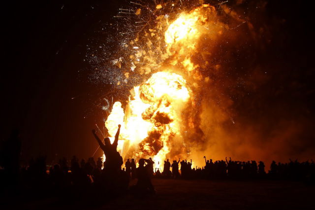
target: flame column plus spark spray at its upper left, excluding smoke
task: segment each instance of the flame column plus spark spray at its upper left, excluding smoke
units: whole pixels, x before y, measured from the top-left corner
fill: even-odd
[[[153,156],[160,168],[166,158],[191,154],[200,126],[198,93],[209,81],[201,70],[209,65],[209,43],[228,27],[218,20],[215,7],[202,1],[131,4],[135,7],[115,16],[126,21],[126,29],[103,76],[115,90],[131,94],[126,107],[114,103],[105,126],[114,137],[122,125],[118,149],[124,159]],[[204,40],[210,40],[207,50],[200,47]]]

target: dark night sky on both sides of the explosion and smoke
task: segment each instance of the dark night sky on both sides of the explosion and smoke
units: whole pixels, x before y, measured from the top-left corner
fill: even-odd
[[[2,5],[1,140],[8,138],[12,128],[19,128],[24,157],[47,154],[52,158],[56,153],[88,157],[95,151],[91,129],[102,123],[103,116],[93,106],[102,92],[89,82],[86,45],[101,24],[117,13],[120,2],[48,0]],[[310,126],[303,138],[309,138],[314,146],[311,64],[315,36],[310,5],[270,0],[266,8],[268,23],[283,18],[287,24],[272,28],[274,46],[269,51],[274,53],[263,60],[268,62],[268,56],[279,60],[279,64],[272,64],[278,70],[264,84],[268,89],[257,95],[248,109],[269,110],[272,101],[277,108],[270,109],[270,114],[278,109],[290,113],[292,107],[294,112],[301,110],[297,118],[303,115]],[[271,94],[276,91],[280,94]],[[279,116],[285,118],[285,114]]]

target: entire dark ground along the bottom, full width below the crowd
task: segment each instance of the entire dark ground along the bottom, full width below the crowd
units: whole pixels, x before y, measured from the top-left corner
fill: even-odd
[[[89,191],[84,191],[81,197],[71,197],[71,193],[68,192],[59,194],[59,197],[47,197],[46,192],[39,192],[38,196],[30,197],[22,193],[20,196],[0,202],[0,210],[314,209],[315,186],[307,186],[303,182],[153,179],[153,184],[157,190],[155,195],[134,196],[128,194],[114,200],[106,199],[106,195],[103,194],[95,198],[95,195]],[[89,195],[92,195],[90,200],[84,201]],[[4,204],[2,207],[1,203]]]

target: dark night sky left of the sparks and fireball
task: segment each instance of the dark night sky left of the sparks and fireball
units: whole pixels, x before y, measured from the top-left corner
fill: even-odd
[[[86,157],[95,151],[91,129],[102,117],[91,107],[98,87],[88,82],[84,59],[100,21],[115,15],[116,2],[28,1],[5,7],[1,138],[19,128],[26,157]]]

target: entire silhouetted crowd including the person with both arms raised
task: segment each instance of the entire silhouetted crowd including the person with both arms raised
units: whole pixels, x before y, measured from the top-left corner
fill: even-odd
[[[154,168],[155,162],[149,159],[127,159],[123,158],[117,151],[120,125],[118,127],[115,140],[110,142],[105,138],[100,140],[95,131],[93,135],[99,143],[100,148],[106,156],[102,158],[89,158],[87,161],[79,160],[73,156],[70,161],[62,158],[58,163],[49,169],[46,165],[45,157],[32,159],[25,167],[18,166],[18,160],[3,155],[4,164],[0,170],[1,180],[6,180],[7,184],[18,183],[24,187],[47,187],[49,189],[63,190],[66,188],[106,189],[110,195],[126,192],[135,194],[155,193],[155,188],[151,182],[155,178],[184,178],[184,179],[290,179],[301,180],[313,183],[315,180],[315,162],[298,160],[289,163],[276,163],[273,161],[270,170],[266,173],[265,164],[262,161],[235,161],[231,158],[219,161],[207,160],[204,156],[204,166],[194,167],[192,160],[164,161],[163,169]],[[16,146],[16,145],[13,145]],[[16,154],[15,154],[16,155]],[[9,163],[5,160],[10,160]],[[135,184],[129,186],[130,180],[136,180]]]

